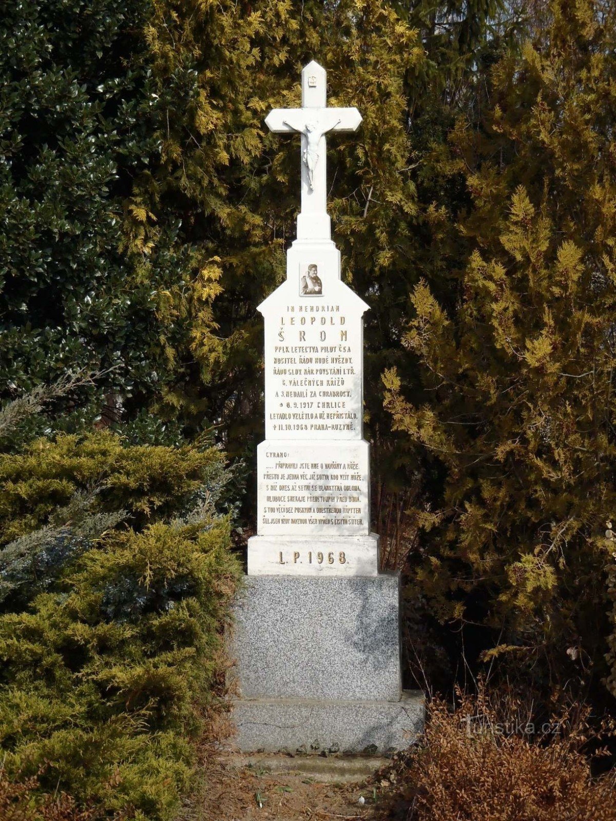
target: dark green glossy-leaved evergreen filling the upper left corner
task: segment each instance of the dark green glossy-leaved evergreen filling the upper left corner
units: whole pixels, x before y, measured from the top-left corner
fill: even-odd
[[[159,163],[150,13],[141,0],[2,8],[0,398],[95,369],[95,383],[64,403],[76,417],[65,426],[139,416],[182,378],[176,351],[190,341],[163,310],[168,289],[200,270],[195,250],[177,243],[177,218],[159,232],[147,273],[122,250],[132,181]],[[213,293],[200,296],[205,319]]]

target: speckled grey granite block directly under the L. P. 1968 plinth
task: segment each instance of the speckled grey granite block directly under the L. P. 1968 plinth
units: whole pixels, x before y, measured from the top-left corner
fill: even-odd
[[[246,576],[230,654],[242,699],[400,699],[399,577]]]

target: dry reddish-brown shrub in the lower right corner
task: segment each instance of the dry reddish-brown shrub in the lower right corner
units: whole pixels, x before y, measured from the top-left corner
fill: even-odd
[[[614,774],[592,777],[582,751],[605,754],[585,710],[536,727],[514,699],[484,691],[428,711],[424,742],[398,771],[411,785],[409,821],[616,821]]]

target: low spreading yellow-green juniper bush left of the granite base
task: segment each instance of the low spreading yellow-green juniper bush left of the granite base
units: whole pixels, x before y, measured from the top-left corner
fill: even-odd
[[[78,488],[127,509],[27,609],[0,616],[0,744],[13,777],[40,771],[45,791],[137,818],[177,810],[238,572],[228,520],[208,498],[222,477],[211,448],[125,447],[109,433],[2,456],[5,539],[44,525]]]

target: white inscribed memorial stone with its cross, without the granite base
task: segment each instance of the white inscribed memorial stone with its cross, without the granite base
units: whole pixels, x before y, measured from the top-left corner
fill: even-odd
[[[249,575],[375,576],[370,456],[363,438],[363,314],[340,279],[327,213],[326,134],[355,131],[356,108],[327,108],[325,71],[301,73],[301,108],[271,131],[301,135],[301,213],[287,280],[259,306],[265,326],[265,441],[257,452],[257,536]]]

